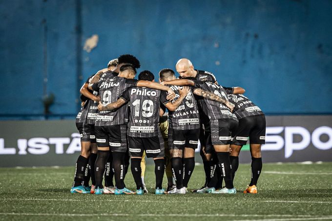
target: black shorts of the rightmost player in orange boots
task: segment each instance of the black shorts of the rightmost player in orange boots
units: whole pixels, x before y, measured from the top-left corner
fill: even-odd
[[[255,115],[239,120],[239,126],[234,131],[234,145],[246,145],[248,138],[250,144],[265,144],[266,121],[265,115]]]

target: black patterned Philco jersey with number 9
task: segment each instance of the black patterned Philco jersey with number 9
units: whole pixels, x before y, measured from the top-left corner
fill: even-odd
[[[136,86],[139,80],[112,77],[108,75],[101,78],[98,83],[93,84],[92,89],[99,91],[103,105],[115,102],[119,95],[128,87]],[[116,110],[100,111],[97,114],[96,126],[110,126],[128,122],[128,106],[123,105]]]

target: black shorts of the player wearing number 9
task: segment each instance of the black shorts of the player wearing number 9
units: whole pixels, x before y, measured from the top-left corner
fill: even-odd
[[[111,151],[126,152],[127,124],[96,126],[96,140],[98,147],[107,147]]]

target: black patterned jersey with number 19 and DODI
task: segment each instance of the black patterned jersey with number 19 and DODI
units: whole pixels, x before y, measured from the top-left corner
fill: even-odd
[[[166,91],[146,87],[131,87],[119,96],[129,102],[129,137],[148,138],[160,134],[159,109],[161,102],[170,102],[166,97]]]

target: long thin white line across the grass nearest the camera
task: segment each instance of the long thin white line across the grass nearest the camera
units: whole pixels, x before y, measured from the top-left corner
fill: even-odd
[[[332,216],[311,216],[311,215],[258,215],[258,214],[127,214],[127,213],[102,213],[102,214],[72,214],[72,213],[0,213],[0,215],[13,215],[13,216],[69,216],[69,217],[98,217],[98,216],[140,216],[140,217],[289,217],[287,219],[331,219]],[[296,218],[291,218],[296,217]],[[272,221],[272,220],[270,220]]]

